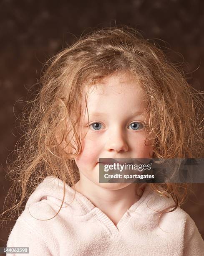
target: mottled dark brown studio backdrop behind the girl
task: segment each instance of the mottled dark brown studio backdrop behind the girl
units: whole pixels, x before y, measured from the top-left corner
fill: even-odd
[[[103,0],[103,1],[0,1],[0,211],[10,183],[5,179],[6,159],[19,138],[16,116],[28,100],[45,60],[88,31],[89,26],[133,26],[145,38],[161,38],[189,63],[196,89],[204,90],[204,1]],[[160,43],[164,45],[164,43]],[[179,55],[174,59],[182,61]],[[32,90],[36,90],[34,85]],[[32,96],[29,96],[29,99]],[[9,156],[9,159],[11,156]],[[184,205],[204,238],[204,184]],[[5,246],[9,229],[0,229]]]

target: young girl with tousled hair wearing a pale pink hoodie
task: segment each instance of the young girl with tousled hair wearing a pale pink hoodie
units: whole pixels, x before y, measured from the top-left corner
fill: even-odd
[[[29,198],[7,247],[54,256],[204,255],[180,208],[187,184],[99,183],[101,158],[203,157],[202,95],[184,73],[134,29],[105,28],[51,59],[41,82],[11,168],[20,198],[10,210]]]

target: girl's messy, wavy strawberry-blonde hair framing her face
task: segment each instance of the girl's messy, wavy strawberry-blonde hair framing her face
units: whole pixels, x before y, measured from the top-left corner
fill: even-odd
[[[15,191],[14,204],[3,214],[16,210],[19,213],[24,200],[47,176],[63,181],[64,195],[65,183],[73,186],[78,182],[74,156],[81,153],[78,121],[83,84],[92,85],[121,71],[139,79],[148,102],[152,157],[203,156],[201,92],[186,82],[184,72],[159,47],[133,28],[97,29],[47,62],[40,80],[42,88],[22,113],[24,134],[14,151],[17,158],[8,166],[14,182],[7,198]],[[187,195],[188,184],[149,186],[161,196],[174,199],[170,211],[181,205]]]

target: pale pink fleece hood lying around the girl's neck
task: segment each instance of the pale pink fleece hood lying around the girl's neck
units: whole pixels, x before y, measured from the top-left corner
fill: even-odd
[[[88,212],[96,208],[95,205],[93,205],[93,203],[81,193],[76,191],[75,196],[74,194],[75,190],[68,186],[68,184],[65,184],[64,186],[60,179],[49,176],[46,177],[38,187],[36,187],[35,191],[28,198],[25,208],[29,207],[31,204],[40,202],[43,199],[51,201],[60,207],[63,197],[64,202],[62,206],[69,207],[75,215],[86,215]],[[160,211],[167,207],[173,207],[174,205],[175,202],[172,197],[167,198],[153,192],[147,184],[140,199],[128,210],[139,214],[141,217],[144,216],[145,212],[146,217],[154,218],[155,215],[160,214]]]

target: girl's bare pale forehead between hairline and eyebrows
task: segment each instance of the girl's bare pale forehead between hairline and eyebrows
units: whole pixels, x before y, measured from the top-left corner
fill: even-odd
[[[144,111],[146,106],[139,80],[125,73],[105,77],[94,85],[87,84],[84,90],[87,95],[88,110],[117,106],[133,111],[135,108]]]

